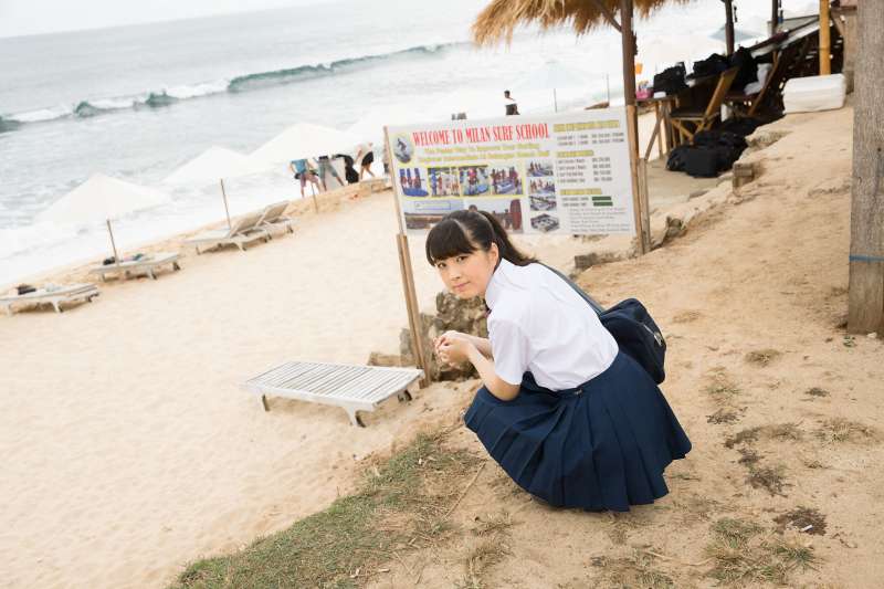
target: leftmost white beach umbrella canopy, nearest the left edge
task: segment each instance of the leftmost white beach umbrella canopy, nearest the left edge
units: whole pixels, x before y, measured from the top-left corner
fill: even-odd
[[[41,221],[86,224],[109,221],[134,211],[169,202],[168,194],[95,173],[40,213]]]

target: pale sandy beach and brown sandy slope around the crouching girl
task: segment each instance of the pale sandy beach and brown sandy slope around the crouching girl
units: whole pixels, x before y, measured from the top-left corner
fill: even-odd
[[[833,418],[884,431],[882,339],[848,338],[841,323],[851,124],[850,108],[778,122],[772,127],[788,135],[746,156],[760,162],[759,179],[737,193],[725,182],[684,196],[666,209],[696,214],[684,236],[579,276],[606,304],[638,296],[663,326],[664,391],[694,451],[671,469],[670,496],[621,519],[532,504],[501,482],[496,466],[486,469],[457,523],[490,511],[490,497],[494,509],[518,513],[511,556],[488,571],[487,587],[604,585],[607,572],[591,559],[628,558],[636,545],[669,555],[657,565],[676,586],[711,586],[703,568],[678,562],[705,558],[712,519],[740,514],[769,524],[798,505],[823,513],[828,532],[804,534],[821,559],[791,582],[873,587],[884,577],[874,466],[884,457],[881,438],[822,443],[814,433]],[[825,150],[810,149],[823,140]],[[457,423],[476,382],[436,383],[407,404],[392,400],[366,416],[366,429],[350,427],[340,409],[296,401],[273,400],[265,413],[240,389],[282,361],[364,364],[373,350],[398,353],[407,316],[392,194],[333,193],[320,214],[307,204],[298,203],[294,235],[245,253],[189,254],[181,272],[108,283],[98,301],[61,315],[0,318],[1,586],[164,587],[187,562],[324,508],[354,487],[372,452]],[[659,211],[655,222],[665,217]],[[571,238],[525,243],[565,271],[575,254],[611,246]],[[439,280],[422,241],[411,246],[428,307]],[[709,382],[722,379],[740,393],[711,395]],[[812,388],[827,395],[807,395]],[[716,412],[733,416],[717,421]],[[746,483],[739,444],[725,441],[782,423],[799,433],[758,430],[754,446],[764,463],[785,469],[789,486],[771,494]],[[469,431],[457,435],[481,452]],[[614,527],[622,534],[612,535]],[[424,565],[423,585],[451,587],[463,576],[461,557],[456,544],[440,548]],[[411,561],[428,560],[418,554]],[[370,583],[410,586],[399,565],[390,568]]]

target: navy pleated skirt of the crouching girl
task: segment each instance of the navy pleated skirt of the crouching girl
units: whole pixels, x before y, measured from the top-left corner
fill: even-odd
[[[567,391],[529,372],[512,401],[478,389],[464,416],[525,491],[558,507],[628,512],[669,493],[663,471],[691,441],[663,393],[632,358]]]

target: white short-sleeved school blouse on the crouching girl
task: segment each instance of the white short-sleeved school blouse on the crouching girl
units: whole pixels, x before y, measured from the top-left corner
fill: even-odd
[[[501,260],[485,290],[494,371],[511,385],[532,372],[541,387],[571,389],[607,370],[614,338],[561,277],[540,264]]]

